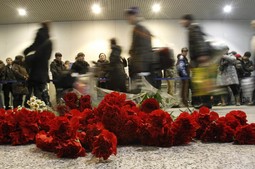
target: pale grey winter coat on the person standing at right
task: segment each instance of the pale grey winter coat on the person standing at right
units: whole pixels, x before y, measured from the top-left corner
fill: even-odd
[[[235,68],[236,57],[232,54],[224,55],[221,59],[221,63],[224,68],[220,70],[219,86],[228,86],[232,84],[239,84],[237,72]]]

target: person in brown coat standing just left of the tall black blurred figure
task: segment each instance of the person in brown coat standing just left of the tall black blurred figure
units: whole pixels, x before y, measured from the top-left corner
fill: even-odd
[[[28,94],[28,88],[26,86],[26,81],[28,79],[28,73],[24,64],[24,57],[19,55],[15,57],[12,63],[12,70],[14,76],[17,80],[16,83],[12,85],[13,92],[13,107],[22,106],[23,95]]]

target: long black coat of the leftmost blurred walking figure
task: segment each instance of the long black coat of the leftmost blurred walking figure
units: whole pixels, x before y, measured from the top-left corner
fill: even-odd
[[[25,49],[25,57],[29,81],[35,83],[47,83],[49,81],[49,59],[52,53],[52,42],[49,39],[47,28],[40,28],[36,34],[34,43]]]

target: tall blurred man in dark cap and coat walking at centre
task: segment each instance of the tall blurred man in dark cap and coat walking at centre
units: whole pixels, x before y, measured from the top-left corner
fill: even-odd
[[[147,28],[139,23],[138,7],[127,9],[126,17],[129,24],[134,25],[132,44],[129,50],[130,58],[128,60],[130,78],[133,82],[137,81],[137,84],[139,84],[141,83],[139,82],[141,76],[146,76],[147,81],[156,86],[155,72],[151,67],[153,63],[152,35]],[[141,86],[135,84],[133,93],[138,93],[140,88]]]

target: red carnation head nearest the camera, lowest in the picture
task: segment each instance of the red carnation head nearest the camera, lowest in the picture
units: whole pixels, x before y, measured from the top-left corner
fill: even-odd
[[[96,137],[93,143],[92,154],[98,158],[107,160],[110,155],[117,154],[117,138],[108,130],[103,130],[102,133]]]

